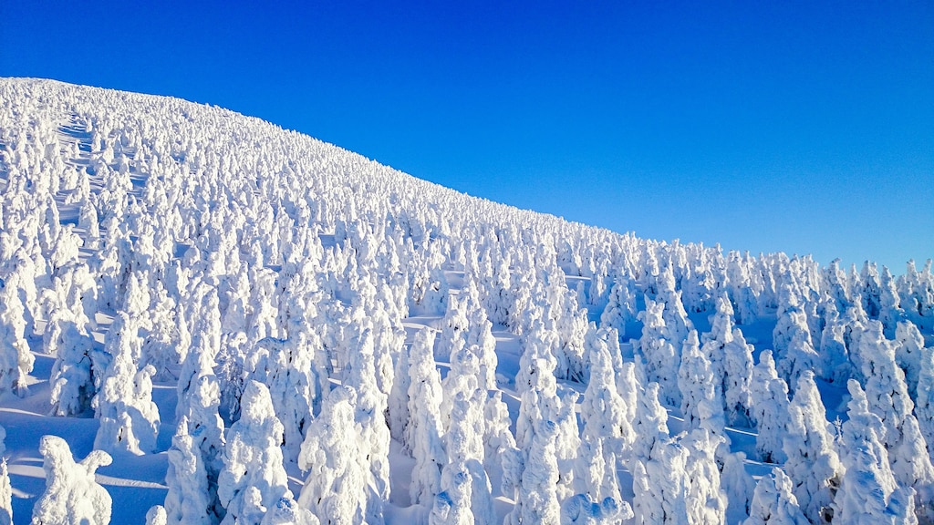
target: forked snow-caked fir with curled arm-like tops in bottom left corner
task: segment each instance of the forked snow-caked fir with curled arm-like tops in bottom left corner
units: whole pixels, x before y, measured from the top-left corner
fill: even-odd
[[[103,450],[92,450],[76,462],[71,448],[57,435],[44,435],[39,442],[46,490],[33,506],[33,523],[107,525],[110,523],[110,494],[97,484],[94,472],[110,464]]]

